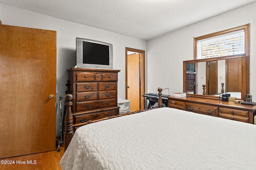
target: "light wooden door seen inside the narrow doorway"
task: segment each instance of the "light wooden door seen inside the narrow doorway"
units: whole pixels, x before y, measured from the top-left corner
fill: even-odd
[[[127,56],[127,100],[130,100],[130,110],[140,110],[140,54]]]

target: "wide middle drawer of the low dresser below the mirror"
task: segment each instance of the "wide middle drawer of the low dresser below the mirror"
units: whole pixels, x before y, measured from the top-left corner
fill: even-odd
[[[218,107],[215,106],[186,103],[186,110],[206,115],[218,116]]]

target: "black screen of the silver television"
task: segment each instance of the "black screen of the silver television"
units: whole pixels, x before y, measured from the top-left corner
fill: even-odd
[[[109,46],[83,41],[83,64],[109,65]]]

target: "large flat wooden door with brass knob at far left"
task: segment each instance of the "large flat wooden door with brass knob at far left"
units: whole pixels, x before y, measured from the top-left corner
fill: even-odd
[[[56,31],[0,25],[0,68],[0,158],[55,150]]]

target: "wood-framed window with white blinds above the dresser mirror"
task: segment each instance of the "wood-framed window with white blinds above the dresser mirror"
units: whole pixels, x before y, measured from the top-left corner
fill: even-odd
[[[194,59],[249,56],[249,49],[249,24],[194,38]]]

